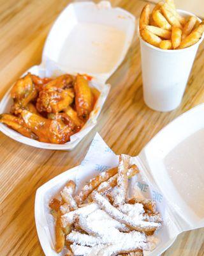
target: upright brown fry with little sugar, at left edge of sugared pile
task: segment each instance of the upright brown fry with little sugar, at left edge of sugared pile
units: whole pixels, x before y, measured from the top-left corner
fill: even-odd
[[[64,232],[61,227],[61,213],[58,212],[57,220],[55,223],[55,251],[57,253],[61,252],[64,247]]]

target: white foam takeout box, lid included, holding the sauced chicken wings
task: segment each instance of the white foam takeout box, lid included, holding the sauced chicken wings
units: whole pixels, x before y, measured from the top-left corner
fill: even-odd
[[[134,31],[135,17],[121,8],[112,8],[108,1],[69,4],[48,34],[41,64],[27,72],[40,77],[55,77],[64,73],[92,76],[90,85],[99,90],[100,96],[89,120],[81,131],[71,136],[71,141],[63,145],[26,138],[4,124],[0,124],[0,131],[13,140],[33,147],[73,149],[96,125],[110,90],[110,84],[106,84],[106,81],[124,60]],[[11,104],[9,91],[1,100],[0,113],[8,113]]]

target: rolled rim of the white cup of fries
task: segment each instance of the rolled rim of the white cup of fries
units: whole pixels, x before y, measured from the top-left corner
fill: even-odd
[[[194,17],[196,17],[200,22],[202,21],[199,17],[197,17],[196,15],[194,15],[194,13],[187,12],[187,11],[180,10],[180,9],[177,9],[177,12],[179,12],[179,13],[184,13],[184,14],[189,15],[189,16],[194,16]],[[175,53],[175,52],[179,53],[179,52],[184,52],[184,51],[190,51],[189,49],[192,49],[192,48],[194,48],[194,47],[197,47],[198,45],[201,44],[201,42],[202,42],[203,39],[204,39],[204,33],[203,33],[203,35],[201,36],[200,40],[199,40],[196,44],[193,44],[193,45],[191,45],[191,46],[189,46],[189,47],[187,47],[187,48],[184,48],[184,49],[164,50],[164,49],[161,49],[161,48],[159,48],[159,47],[156,47],[156,46],[154,46],[154,45],[152,45],[152,44],[149,44],[149,43],[145,42],[145,40],[143,40],[142,36],[140,35],[140,24],[138,24],[137,31],[138,31],[138,37],[140,38],[140,40],[142,41],[143,44],[147,45],[148,47],[150,47],[150,48],[152,48],[152,49],[154,49],[154,50],[156,50],[156,51],[160,51],[160,52],[169,52],[169,53],[172,53],[172,54]]]

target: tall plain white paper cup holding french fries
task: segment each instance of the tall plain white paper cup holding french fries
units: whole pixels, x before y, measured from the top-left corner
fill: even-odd
[[[184,17],[194,16],[193,13],[182,10],[178,12]],[[204,35],[196,44],[179,50],[163,50],[148,44],[140,36],[139,28],[138,35],[145,103],[156,111],[171,111],[182,101],[194,58]]]

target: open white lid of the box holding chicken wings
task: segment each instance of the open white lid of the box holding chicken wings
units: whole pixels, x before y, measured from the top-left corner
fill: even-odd
[[[134,31],[135,17],[108,1],[69,4],[48,35],[43,63],[105,83],[124,60]]]

